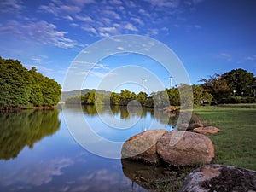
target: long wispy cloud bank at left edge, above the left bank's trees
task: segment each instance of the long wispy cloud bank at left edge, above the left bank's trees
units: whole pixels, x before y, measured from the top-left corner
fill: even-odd
[[[73,48],[77,42],[67,38],[67,32],[57,31],[57,27],[44,20],[22,25],[16,21],[7,26],[0,26],[0,34],[15,36],[23,40],[30,40],[38,44],[53,44],[60,48]]]

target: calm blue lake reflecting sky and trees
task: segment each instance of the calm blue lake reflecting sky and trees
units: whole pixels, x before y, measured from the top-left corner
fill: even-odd
[[[161,177],[164,168],[121,160],[120,143],[148,129],[170,131],[176,121],[131,106],[0,113],[0,191],[148,191],[138,178]]]

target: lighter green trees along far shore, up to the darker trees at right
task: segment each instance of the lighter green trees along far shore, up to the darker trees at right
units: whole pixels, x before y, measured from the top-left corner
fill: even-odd
[[[189,90],[193,92],[193,97],[189,98]],[[180,94],[180,91],[182,94]],[[180,96],[182,95],[182,96]],[[191,94],[190,94],[191,95]],[[139,102],[142,106],[148,108],[164,108],[168,105],[181,105],[181,99],[186,100],[183,103],[186,103],[187,106],[191,107],[194,105],[200,105],[201,101],[212,101],[212,96],[203,90],[198,85],[189,85],[182,84],[179,88],[166,89],[158,92],[153,92],[151,96],[148,96],[145,92],[139,92],[138,94],[131,92],[130,90],[121,90],[121,92],[110,94],[98,93],[96,90],[91,90],[90,92],[85,93],[82,96],[73,96],[68,98],[67,104],[85,104],[85,105],[94,105],[94,104],[110,104],[112,106],[126,106],[128,103],[137,104]],[[132,101],[137,102],[132,102]]]

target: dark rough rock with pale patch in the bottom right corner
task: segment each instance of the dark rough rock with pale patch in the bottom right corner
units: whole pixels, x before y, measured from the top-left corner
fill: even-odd
[[[256,191],[256,172],[217,164],[202,166],[186,177],[179,192]]]

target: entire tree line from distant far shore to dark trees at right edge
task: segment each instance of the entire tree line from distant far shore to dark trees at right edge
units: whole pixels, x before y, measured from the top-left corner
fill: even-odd
[[[168,105],[199,106],[205,103],[250,103],[256,102],[253,96],[253,89],[250,85],[256,84],[253,73],[244,69],[234,69],[223,74],[214,74],[209,79],[201,79],[201,84],[188,85],[180,84],[177,87],[151,93],[131,92],[121,90],[120,93],[111,92],[109,94],[98,93],[96,90],[85,93],[82,96],[73,96],[67,99],[67,104],[110,104],[125,106],[129,102],[136,100],[144,107],[163,108]],[[189,96],[189,90],[192,96]],[[191,95],[191,94],[190,94]],[[181,102],[185,101],[185,102]],[[134,102],[134,104],[136,104]],[[183,106],[186,107],[186,106]]]

